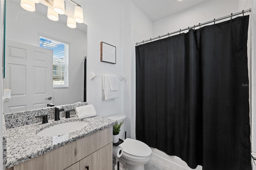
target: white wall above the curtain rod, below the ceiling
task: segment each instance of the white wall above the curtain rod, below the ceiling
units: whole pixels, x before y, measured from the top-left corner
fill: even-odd
[[[236,0],[210,0],[153,23],[153,36],[161,36],[238,12]],[[223,21],[223,20],[222,20]],[[220,22],[222,22],[220,21]],[[216,22],[218,23],[218,22]],[[198,29],[198,28],[196,28]],[[185,31],[188,32],[188,31]]]

